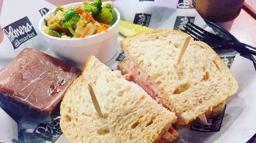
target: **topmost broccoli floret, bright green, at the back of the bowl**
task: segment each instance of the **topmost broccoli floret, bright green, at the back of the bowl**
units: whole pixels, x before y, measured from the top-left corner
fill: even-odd
[[[101,0],[94,0],[93,3],[88,1],[84,1],[83,6],[81,6],[87,12],[92,12],[92,16],[97,17],[102,11],[102,1]]]

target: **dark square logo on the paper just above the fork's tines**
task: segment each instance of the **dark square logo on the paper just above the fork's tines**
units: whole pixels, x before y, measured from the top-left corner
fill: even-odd
[[[175,30],[185,30],[184,26],[188,23],[194,23],[195,17],[177,16],[173,29]]]

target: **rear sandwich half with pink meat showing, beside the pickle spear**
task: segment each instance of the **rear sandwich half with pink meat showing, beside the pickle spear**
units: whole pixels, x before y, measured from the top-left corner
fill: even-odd
[[[209,45],[190,40],[178,64],[188,34],[155,30],[130,36],[120,47],[128,59],[119,62],[125,78],[137,83],[163,107],[177,115],[178,128],[221,113],[225,100],[236,93],[233,73]]]

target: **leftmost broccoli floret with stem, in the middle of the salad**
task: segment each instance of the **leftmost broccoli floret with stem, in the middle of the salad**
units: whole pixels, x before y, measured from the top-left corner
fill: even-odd
[[[79,16],[71,17],[69,20],[63,20],[61,22],[61,25],[63,28],[66,28],[70,31],[72,35],[75,34],[75,31],[73,29],[76,29],[76,23],[79,21]]]

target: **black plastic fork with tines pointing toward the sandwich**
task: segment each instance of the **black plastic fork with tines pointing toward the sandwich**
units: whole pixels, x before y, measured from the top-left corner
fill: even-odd
[[[192,22],[183,25],[181,31],[190,34],[194,39],[206,42],[214,50],[233,48],[239,53],[248,53],[256,55],[256,48],[236,40],[226,40],[220,36],[214,35],[198,27]]]

